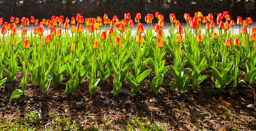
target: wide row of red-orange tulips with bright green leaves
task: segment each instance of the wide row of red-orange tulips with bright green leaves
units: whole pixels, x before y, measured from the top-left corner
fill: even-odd
[[[235,88],[239,86],[239,83],[244,83],[239,79],[241,74],[239,66],[241,65],[246,73],[249,86],[255,88],[256,28],[252,28],[251,32],[249,29],[247,32],[247,26],[252,23],[252,20],[247,18],[244,21],[248,24],[243,24],[242,33],[238,37],[231,35],[227,33],[231,30],[229,29],[231,24],[228,22],[230,16],[228,12],[224,12],[226,17],[224,23],[222,15],[220,13],[217,17],[218,35],[214,31],[215,22],[212,14],[203,17],[201,12],[196,12],[193,18],[189,14],[184,14],[184,19],[187,21],[184,29],[179,20],[176,20],[175,15],[170,14],[172,27],[167,37],[162,30],[164,16],[158,12],[155,14],[158,23],[154,29],[152,29],[154,15],[145,16],[145,21],[148,23],[146,32],[144,32],[142,23],[139,22],[141,15],[137,13],[136,33],[132,33],[134,23],[129,13],[125,14],[121,21],[117,16],[110,20],[106,14],[103,20],[101,17],[83,20],[83,16],[77,14],[76,19],[72,17],[71,21],[66,18],[63,25],[63,16],[52,16],[51,20],[43,19],[39,27],[37,27],[38,20],[31,17],[30,21],[28,18],[23,18],[21,21],[24,21],[26,26],[32,23],[31,28],[34,23],[36,27],[32,29],[30,35],[27,35],[27,30],[23,29],[21,39],[18,39],[15,25],[19,20],[11,17],[11,23],[5,22],[1,31],[3,39],[1,41],[0,84],[15,82],[15,73],[23,70],[21,89],[13,92],[10,97],[12,101],[20,95],[25,95],[28,74],[30,74],[31,83],[37,84],[44,95],[49,91],[51,82],[52,86],[57,86],[62,81],[64,73],[70,78],[66,84],[67,95],[72,95],[79,84],[87,80],[89,76],[89,91],[93,97],[97,93],[97,84],[114,74],[114,96],[118,97],[122,82],[127,81],[131,85],[132,97],[135,97],[140,90],[139,84],[153,70],[155,75],[150,87],[155,94],[158,94],[163,77],[168,70],[172,71],[175,79],[170,82],[170,89],[179,93],[183,93],[188,88],[189,73],[193,76],[191,87],[197,90],[200,83],[209,76],[201,75],[201,72],[211,70],[211,77],[216,81],[215,86],[218,92],[221,92],[231,82]],[[0,23],[2,22],[1,18]],[[205,23],[205,34],[202,34],[201,22]],[[72,24],[71,27],[69,23]],[[85,23],[85,29],[83,23]],[[103,23],[105,30],[101,31]],[[44,33],[45,24],[48,25],[47,33]],[[110,29],[106,29],[106,24],[110,24]],[[174,24],[177,29],[176,33]],[[240,25],[239,21],[238,24]],[[60,29],[57,29],[58,26]],[[20,24],[20,28],[24,28],[23,24]],[[12,31],[10,39],[9,29]],[[50,34],[48,29],[50,29]],[[165,64],[167,54],[172,58],[173,65]],[[22,67],[18,66],[17,57]],[[190,68],[185,68],[186,63]],[[6,78],[3,78],[3,71],[8,75]]]

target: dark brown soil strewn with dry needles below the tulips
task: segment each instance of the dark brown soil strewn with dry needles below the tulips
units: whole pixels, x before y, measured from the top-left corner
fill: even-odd
[[[167,55],[166,64],[172,64],[170,59]],[[159,123],[166,130],[255,130],[255,108],[247,108],[248,104],[256,107],[253,89],[248,84],[233,89],[230,84],[219,94],[211,71],[203,71],[202,75],[205,74],[209,77],[200,84],[198,91],[192,90],[190,85],[185,93],[179,94],[169,89],[169,83],[174,81],[169,70],[164,75],[159,94],[155,95],[150,91],[154,77],[154,72],[151,72],[139,85],[141,89],[135,98],[131,97],[131,87],[127,82],[123,82],[118,98],[113,96],[114,75],[98,84],[98,93],[93,98],[90,98],[88,79],[79,85],[73,96],[65,93],[67,75],[63,75],[58,86],[51,84],[46,96],[29,79],[26,95],[9,103],[12,92],[20,89],[21,71],[16,73],[15,83],[5,83],[0,88],[0,120],[24,117],[28,111],[36,111],[40,114],[37,127],[51,126],[51,114],[57,114],[75,118],[74,122],[82,129],[91,128],[95,121],[100,125],[105,119],[114,123],[109,129],[123,129],[125,121],[144,117],[149,123]],[[244,75],[240,77],[245,80]],[[81,103],[80,108],[76,102]]]

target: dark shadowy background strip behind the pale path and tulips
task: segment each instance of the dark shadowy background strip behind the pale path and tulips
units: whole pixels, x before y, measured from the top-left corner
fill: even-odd
[[[256,0],[0,0],[0,7],[0,17],[4,17],[4,21],[9,21],[10,16],[34,16],[41,20],[51,18],[52,15],[71,18],[77,13],[84,18],[103,17],[106,13],[110,18],[117,15],[119,19],[123,19],[124,13],[131,13],[133,19],[136,13],[141,13],[144,21],[147,13],[155,14],[156,11],[165,16],[166,22],[169,21],[170,13],[184,21],[184,13],[194,16],[197,11],[201,11],[204,16],[214,14],[215,21],[217,13],[223,11],[228,11],[235,21],[237,16],[256,20]]]

